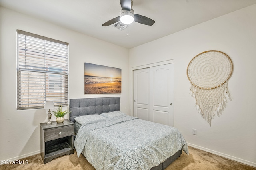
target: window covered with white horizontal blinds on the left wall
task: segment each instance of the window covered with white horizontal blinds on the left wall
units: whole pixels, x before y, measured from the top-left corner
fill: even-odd
[[[17,108],[68,105],[68,43],[17,30]]]

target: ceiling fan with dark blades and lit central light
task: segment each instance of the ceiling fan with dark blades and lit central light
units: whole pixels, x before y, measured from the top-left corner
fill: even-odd
[[[138,22],[140,24],[152,26],[155,21],[139,14],[134,14],[134,10],[132,9],[132,0],[120,0],[121,8],[120,16],[113,18],[104,24],[102,26],[109,26],[116,22],[121,21],[124,24],[131,24],[133,21]]]

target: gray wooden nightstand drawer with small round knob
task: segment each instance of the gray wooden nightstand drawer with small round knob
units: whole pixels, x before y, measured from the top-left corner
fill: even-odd
[[[60,128],[54,128],[50,130],[44,130],[44,141],[54,140],[58,138],[64,138],[74,134],[74,127],[66,126]]]

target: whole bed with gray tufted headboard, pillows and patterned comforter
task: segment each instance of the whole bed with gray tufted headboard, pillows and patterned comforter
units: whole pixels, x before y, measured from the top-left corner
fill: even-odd
[[[120,97],[70,99],[69,110],[77,155],[97,170],[163,170],[188,154],[178,129],[122,113]]]

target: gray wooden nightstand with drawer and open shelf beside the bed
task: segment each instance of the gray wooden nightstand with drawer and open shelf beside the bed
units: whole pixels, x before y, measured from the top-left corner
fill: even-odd
[[[65,154],[74,153],[74,123],[65,119],[63,123],[40,123],[41,156],[45,163]]]

